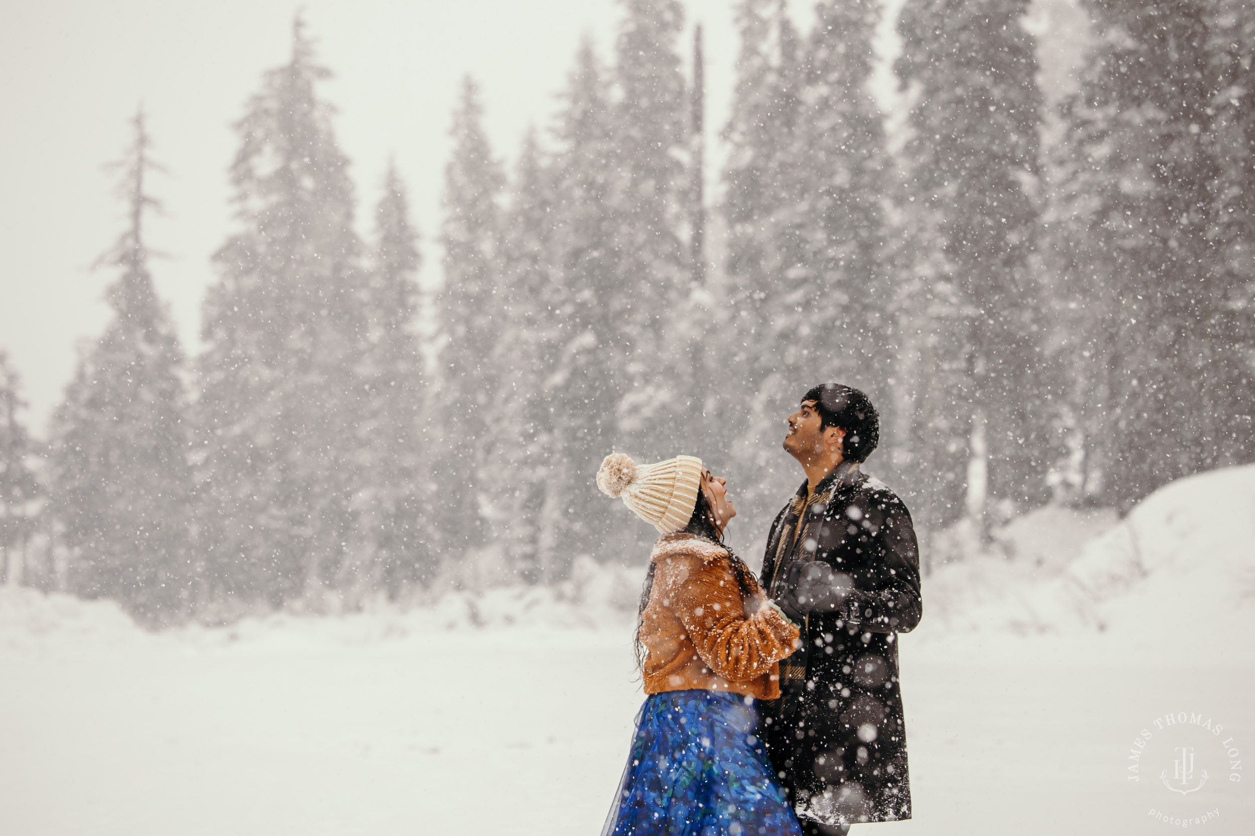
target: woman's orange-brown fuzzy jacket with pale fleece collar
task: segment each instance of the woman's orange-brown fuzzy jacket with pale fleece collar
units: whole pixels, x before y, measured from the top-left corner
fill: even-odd
[[[641,614],[645,693],[729,691],[756,699],[779,697],[779,661],[793,652],[798,628],[757,582],[743,599],[728,551],[692,534],[668,534],[654,546],[656,564]]]

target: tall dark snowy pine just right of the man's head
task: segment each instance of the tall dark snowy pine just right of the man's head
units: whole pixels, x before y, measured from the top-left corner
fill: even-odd
[[[1028,0],[909,0],[899,24],[897,73],[917,85],[910,194],[934,218],[958,303],[927,331],[950,330],[941,342],[961,345],[964,366],[927,404],[946,414],[948,435],[920,432],[929,450],[919,461],[932,470],[936,521],[966,508],[981,530],[990,500],[1042,501],[1055,457],[1032,269],[1040,93],[1027,9]],[[965,498],[955,493],[956,454],[966,459]]]

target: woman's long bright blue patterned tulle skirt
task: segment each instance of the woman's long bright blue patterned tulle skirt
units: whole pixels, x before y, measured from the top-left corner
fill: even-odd
[[[651,694],[602,836],[799,836],[757,724],[740,694]]]

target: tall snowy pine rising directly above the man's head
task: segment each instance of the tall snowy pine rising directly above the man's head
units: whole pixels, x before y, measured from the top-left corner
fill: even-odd
[[[868,88],[878,18],[875,0],[816,6],[803,58],[801,144],[792,149],[798,179],[808,184],[796,207],[806,252],[783,277],[772,318],[788,343],[784,368],[794,389],[798,380],[846,381],[887,409],[885,130]]]

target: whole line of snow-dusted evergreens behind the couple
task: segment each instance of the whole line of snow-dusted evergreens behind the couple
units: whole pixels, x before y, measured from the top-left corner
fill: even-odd
[[[1255,8],[1081,5],[1054,108],[1028,0],[906,0],[890,142],[878,3],[821,0],[799,30],[743,0],[707,206],[700,50],[678,0],[622,0],[611,59],[580,48],[510,170],[466,81],[432,293],[395,170],[355,231],[297,23],[236,123],[203,351],[153,292],[137,117],[114,315],[46,445],[0,357],[10,580],[153,624],[553,583],[644,554],[594,488],[612,450],[705,457],[752,543],[801,479],[783,419],[827,380],[880,407],[867,468],[925,536],[1251,461]]]

